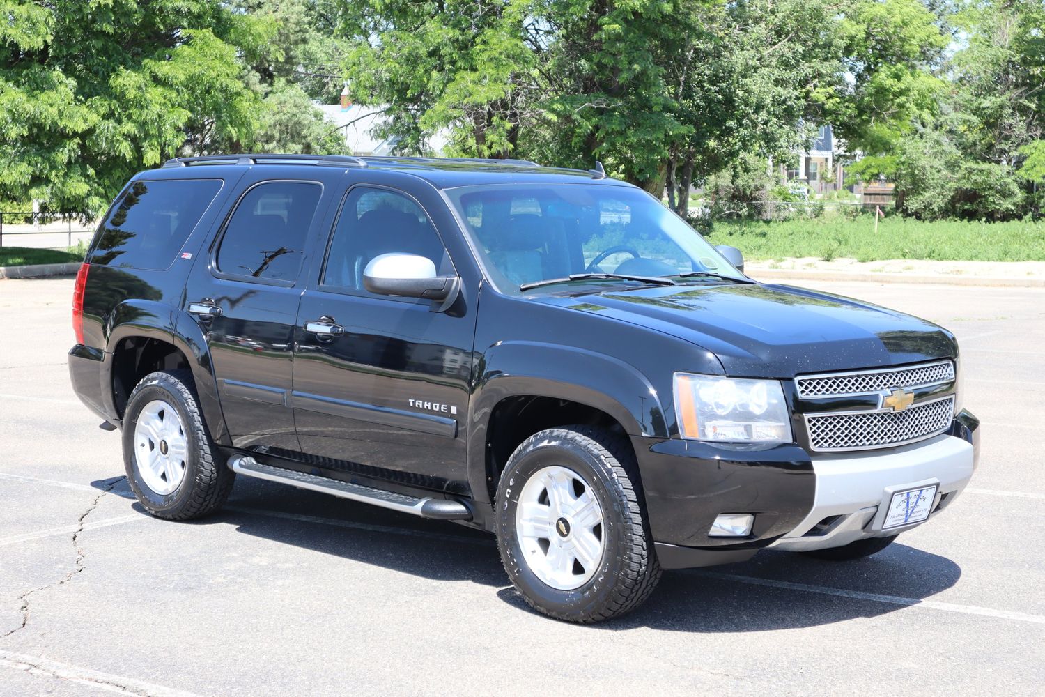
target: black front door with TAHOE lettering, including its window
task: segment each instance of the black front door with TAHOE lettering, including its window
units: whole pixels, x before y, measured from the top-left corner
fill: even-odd
[[[292,403],[301,449],[324,467],[464,493],[474,305],[462,297],[436,312],[432,301],[369,293],[364,269],[391,252],[455,273],[415,199],[353,186],[298,311]]]

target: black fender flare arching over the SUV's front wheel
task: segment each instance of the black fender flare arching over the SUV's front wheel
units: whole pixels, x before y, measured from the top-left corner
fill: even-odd
[[[629,436],[668,438],[657,391],[630,364],[604,353],[558,344],[513,341],[490,348],[468,409],[468,483],[490,503],[486,434],[493,409],[507,397],[535,395],[575,401],[613,417]]]

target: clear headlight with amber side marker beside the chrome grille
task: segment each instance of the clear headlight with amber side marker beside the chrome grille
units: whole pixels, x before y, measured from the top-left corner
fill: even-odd
[[[780,380],[675,373],[675,412],[682,438],[746,443],[792,440]]]

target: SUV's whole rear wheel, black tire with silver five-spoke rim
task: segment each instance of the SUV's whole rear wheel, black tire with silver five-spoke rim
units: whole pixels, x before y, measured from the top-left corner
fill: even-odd
[[[158,518],[202,518],[228,499],[236,475],[207,433],[189,371],[149,373],[135,387],[123,415],[123,464],[131,489]]]

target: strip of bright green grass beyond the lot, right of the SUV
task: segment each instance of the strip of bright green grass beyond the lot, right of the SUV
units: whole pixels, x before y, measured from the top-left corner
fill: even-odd
[[[825,214],[812,219],[716,220],[707,240],[740,248],[750,259],[846,257],[858,261],[1045,261],[1045,222],[925,223]]]

